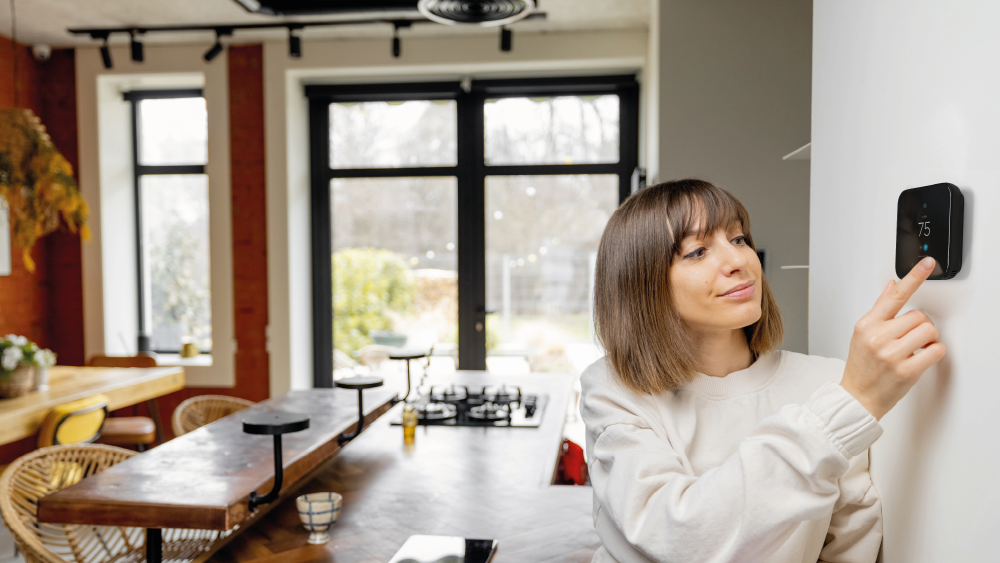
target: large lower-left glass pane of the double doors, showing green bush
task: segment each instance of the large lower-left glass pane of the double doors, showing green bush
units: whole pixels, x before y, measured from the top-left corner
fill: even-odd
[[[458,338],[457,180],[330,183],[334,347],[440,351]]]

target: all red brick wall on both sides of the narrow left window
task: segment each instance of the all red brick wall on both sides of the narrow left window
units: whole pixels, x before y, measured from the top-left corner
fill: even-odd
[[[19,99],[35,110],[56,146],[78,164],[76,80],[72,50],[56,50],[39,64],[18,46]],[[270,393],[267,329],[267,228],[264,191],[264,75],[260,45],[229,48],[230,153],[232,154],[233,300],[238,349],[234,388],[189,388],[159,399],[168,438],[170,416],[181,401],[220,394],[262,401]],[[12,106],[11,42],[0,36],[0,107]],[[65,365],[83,365],[83,283],[79,238],[45,237],[32,256],[29,274],[14,252],[14,275],[0,277],[0,334],[24,334],[59,353]],[[135,412],[146,414],[140,405]],[[132,415],[133,409],[116,413]],[[34,440],[0,447],[0,464],[31,451]]]

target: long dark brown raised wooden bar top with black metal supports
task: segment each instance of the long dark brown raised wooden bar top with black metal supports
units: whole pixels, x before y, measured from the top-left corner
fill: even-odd
[[[385,388],[366,391],[365,426],[385,414],[395,397]],[[242,531],[337,454],[339,436],[357,427],[357,400],[353,391],[313,389],[259,403],[44,497],[38,519],[146,528],[151,563],[159,561],[155,539],[164,528]],[[243,432],[243,417],[259,411],[301,413],[311,420],[308,429],[283,437],[279,502],[251,513],[250,494],[270,491],[274,479],[271,437]],[[209,553],[235,535],[223,534]]]

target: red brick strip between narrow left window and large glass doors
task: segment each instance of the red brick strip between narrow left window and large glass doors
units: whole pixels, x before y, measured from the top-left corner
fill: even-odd
[[[159,400],[165,428],[181,401],[205,394],[263,401],[270,394],[267,330],[267,228],[264,192],[264,51],[229,47],[229,152],[232,155],[233,309],[236,386],[189,388]],[[128,409],[130,411],[130,409]],[[169,434],[168,430],[168,434]]]

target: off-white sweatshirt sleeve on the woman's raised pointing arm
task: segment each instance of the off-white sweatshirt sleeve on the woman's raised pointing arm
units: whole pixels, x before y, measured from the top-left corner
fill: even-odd
[[[766,559],[799,523],[830,516],[851,458],[882,432],[850,393],[827,383],[806,404],[761,421],[721,465],[695,477],[624,393],[589,387],[583,415],[597,508],[657,561]]]

